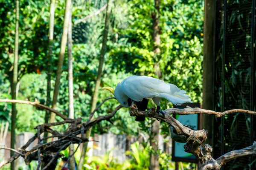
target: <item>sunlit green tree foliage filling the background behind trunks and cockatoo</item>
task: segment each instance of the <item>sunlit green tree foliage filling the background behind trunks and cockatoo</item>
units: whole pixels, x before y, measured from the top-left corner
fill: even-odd
[[[102,45],[105,13],[79,19],[97,11],[107,0],[73,1],[73,80],[75,118],[87,119],[93,95],[99,54]],[[49,30],[49,0],[20,0],[20,48],[18,60],[18,98],[41,104],[46,103],[47,50]],[[160,6],[161,45],[155,56],[152,40],[153,0],[116,0],[111,13],[105,65],[101,86],[115,87],[131,75],[154,77],[154,64],[159,65],[161,79],[186,90],[193,102],[202,101],[202,46],[203,1],[162,0]],[[0,0],[0,98],[10,98],[10,80],[14,59],[15,4]],[[64,20],[64,0],[56,0],[53,45],[53,77],[57,69],[60,39]],[[66,54],[67,55],[67,54]],[[67,56],[64,58],[57,110],[68,115]],[[53,92],[53,91],[52,91]],[[99,92],[98,102],[111,96],[108,91]],[[167,103],[172,107],[171,103]],[[96,114],[110,113],[118,102],[106,102]],[[10,119],[11,105],[0,104],[0,121]],[[44,122],[44,111],[32,106],[17,104],[17,131],[34,131],[35,125]],[[56,117],[58,119],[58,117]],[[101,122],[93,133],[113,132],[136,135],[140,125],[122,108],[114,116],[113,125]],[[138,127],[139,128],[139,127]]]

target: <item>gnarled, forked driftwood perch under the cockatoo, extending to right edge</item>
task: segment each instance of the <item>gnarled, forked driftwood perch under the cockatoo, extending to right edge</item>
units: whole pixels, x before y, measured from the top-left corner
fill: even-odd
[[[213,159],[211,156],[212,147],[209,144],[205,144],[204,147],[200,147],[207,139],[206,130],[192,130],[189,127],[182,125],[177,119],[173,118],[169,114],[175,113],[179,115],[188,115],[188,114],[210,114],[216,117],[221,117],[230,113],[249,113],[256,115],[254,111],[247,111],[243,109],[233,109],[224,112],[215,112],[200,108],[190,108],[177,109],[169,108],[164,111],[166,114],[163,117],[156,112],[156,108],[152,107],[148,111],[138,111],[136,105],[132,105],[130,109],[131,116],[147,116],[153,117],[155,119],[160,119],[163,122],[169,123],[176,131],[177,134],[183,134],[189,136],[187,143],[184,145],[184,149],[188,153],[192,153],[196,158],[201,162],[201,170],[220,170],[221,166],[228,161],[239,158],[241,156],[256,155],[256,142],[252,146],[246,147],[241,150],[233,150],[229,153],[224,154],[218,159]]]

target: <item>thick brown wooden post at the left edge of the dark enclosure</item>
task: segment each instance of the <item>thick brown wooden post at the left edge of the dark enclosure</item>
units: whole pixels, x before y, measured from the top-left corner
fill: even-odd
[[[214,105],[214,46],[215,0],[204,0],[204,60],[203,60],[203,109],[213,110]],[[202,115],[202,128],[209,130],[206,143],[213,146],[213,117]]]

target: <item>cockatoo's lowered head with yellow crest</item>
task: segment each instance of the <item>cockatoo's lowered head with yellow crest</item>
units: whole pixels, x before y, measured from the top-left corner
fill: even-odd
[[[120,83],[117,84],[116,89],[114,90],[111,87],[103,87],[102,89],[108,90],[116,97],[117,101],[125,108],[128,108],[128,99],[129,97],[122,92]]]

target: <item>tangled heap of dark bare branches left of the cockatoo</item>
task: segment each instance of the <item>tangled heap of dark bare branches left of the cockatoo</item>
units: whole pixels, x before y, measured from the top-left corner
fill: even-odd
[[[113,99],[113,98],[108,98],[108,99]],[[108,99],[105,99],[96,108],[96,110],[99,109],[99,107]],[[37,101],[29,102],[29,101],[21,101],[21,100],[0,99],[0,102],[18,102],[23,104],[31,104],[35,106],[40,105],[37,103]],[[47,108],[44,105],[40,105],[40,107],[44,109]],[[41,164],[41,162],[45,162],[47,164],[46,167],[44,167],[44,169],[55,168],[54,165],[56,163],[56,160],[59,157],[63,156],[62,154],[60,154],[61,150],[66,149],[70,144],[81,144],[84,142],[88,142],[88,139],[84,138],[84,135],[81,135],[81,137],[78,137],[77,135],[83,133],[84,130],[90,129],[90,127],[99,123],[102,120],[111,119],[120,108],[122,108],[122,105],[119,105],[111,114],[108,114],[105,116],[98,116],[96,119],[90,120],[87,123],[86,122],[81,123],[81,118],[78,118],[78,119],[65,119],[62,122],[44,123],[42,125],[38,125],[35,127],[38,130],[38,133],[36,133],[35,136],[29,139],[29,141],[19,149],[19,151],[15,150],[16,153],[14,156],[0,162],[0,168],[3,167],[3,165],[5,164],[8,164],[14,161],[19,156],[22,156],[25,159],[26,164],[29,164],[32,160],[37,160],[39,164]],[[94,110],[93,113],[96,112],[96,110]],[[63,125],[66,123],[70,125],[64,133],[60,133],[50,128],[52,126]],[[52,142],[41,143],[41,141],[44,140],[44,138],[40,139],[40,135],[43,132],[52,133],[51,137],[57,137],[58,139]],[[38,144],[28,151],[25,150],[37,138],[38,138]],[[6,149],[6,148],[0,148],[0,149]],[[77,149],[78,148],[76,148],[76,150]]]

